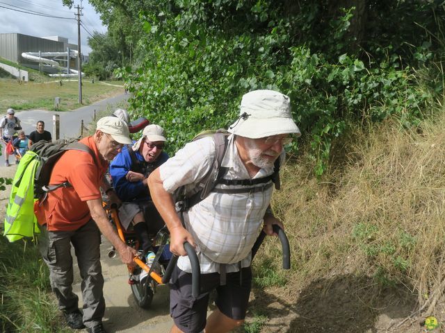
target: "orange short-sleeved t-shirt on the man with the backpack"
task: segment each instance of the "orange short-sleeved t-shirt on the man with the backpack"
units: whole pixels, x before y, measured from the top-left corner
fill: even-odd
[[[54,164],[50,184],[70,182],[72,187],[61,187],[48,194],[39,207],[39,216],[46,218],[50,231],[72,231],[90,221],[91,214],[87,200],[101,198],[99,190],[108,162],[99,155],[92,137],[80,141],[91,148],[95,159],[84,151],[67,151]],[[96,164],[96,162],[98,164]]]

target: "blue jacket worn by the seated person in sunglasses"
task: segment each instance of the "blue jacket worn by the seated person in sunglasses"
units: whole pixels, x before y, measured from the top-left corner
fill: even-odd
[[[118,153],[116,157],[114,157],[110,164],[110,175],[113,179],[113,187],[116,194],[118,194],[120,200],[126,202],[133,200],[150,200],[148,187],[143,185],[142,181],[129,182],[127,178],[125,178],[128,171],[134,171],[135,168],[132,165],[133,163],[131,161],[131,155],[128,149],[128,146],[124,146],[122,151]],[[143,166],[150,167],[152,170],[156,169],[166,160],[168,160],[168,154],[165,152],[162,152],[158,159],[152,163],[145,162],[144,157],[140,155],[138,151],[135,151],[134,153],[136,155],[136,159],[141,162]]]

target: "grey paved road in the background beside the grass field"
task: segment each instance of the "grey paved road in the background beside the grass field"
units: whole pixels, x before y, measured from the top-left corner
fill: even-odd
[[[42,120],[45,123],[45,129],[51,132],[53,135],[53,115],[59,114],[60,116],[60,138],[64,137],[77,137],[81,133],[81,121],[83,120],[84,126],[94,120],[95,114],[111,114],[113,110],[118,108],[119,104],[127,101],[129,95],[120,94],[118,96],[111,97],[109,99],[104,99],[93,103],[92,105],[86,105],[82,108],[65,111],[46,111],[46,110],[26,110],[15,112],[15,116],[22,122],[22,128],[28,135],[33,130],[35,130],[35,124],[37,121]],[[1,114],[0,114],[1,116]],[[54,135],[53,135],[54,137]],[[5,159],[4,155],[1,155],[0,163],[4,165]],[[13,158],[10,157],[9,162],[12,162]]]

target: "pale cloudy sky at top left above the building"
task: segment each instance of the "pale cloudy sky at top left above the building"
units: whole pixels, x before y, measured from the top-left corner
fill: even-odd
[[[80,4],[80,0],[74,0],[74,6]],[[102,25],[99,15],[87,0],[82,1],[81,22],[90,33],[98,31],[106,32],[106,26]],[[0,33],[22,33],[34,37],[60,36],[67,37],[68,42],[77,44],[77,21],[74,13],[76,9],[62,5],[62,0],[0,0]],[[6,9],[11,8],[11,9]],[[70,19],[56,19],[34,14],[44,14],[56,17],[68,17]],[[88,46],[88,32],[81,26],[81,52],[90,53]]]

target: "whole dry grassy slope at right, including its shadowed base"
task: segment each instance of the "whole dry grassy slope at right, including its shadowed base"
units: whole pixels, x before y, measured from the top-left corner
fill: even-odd
[[[255,259],[264,275],[257,285],[270,282],[266,292],[255,289],[259,314],[270,319],[274,300],[284,303],[302,316],[291,327],[303,328],[289,332],[371,332],[382,316],[400,322],[416,309],[416,330],[428,315],[445,321],[444,126],[441,113],[416,131],[396,121],[357,130],[337,143],[322,180],[305,157],[286,165],[273,207],[291,242],[292,270],[282,271],[277,241],[268,241],[273,260]]]

